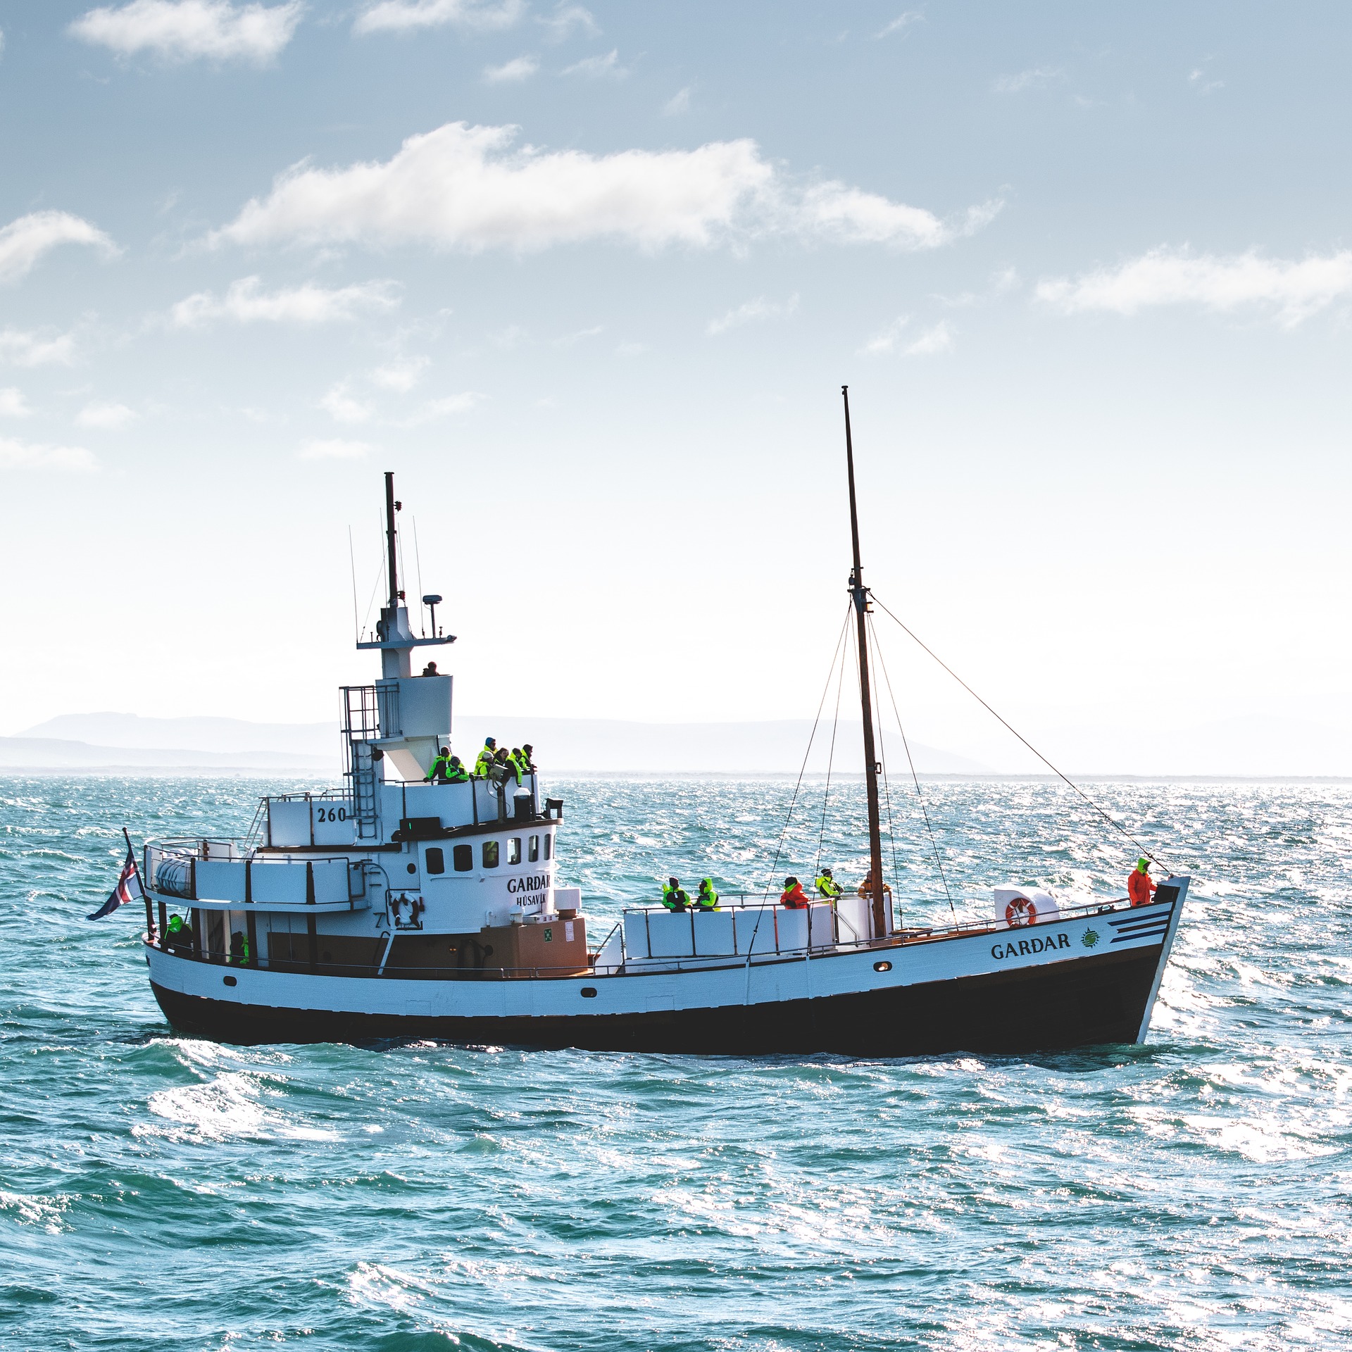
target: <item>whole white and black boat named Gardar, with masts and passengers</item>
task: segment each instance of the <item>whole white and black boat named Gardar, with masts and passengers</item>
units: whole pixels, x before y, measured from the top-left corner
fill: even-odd
[[[454,635],[437,627],[439,596],[423,598],[431,634],[414,634],[399,587],[400,504],[385,475],[388,596],[375,633],[357,642],[380,654],[380,677],[342,687],[342,787],[269,794],[245,838],[149,841],[139,860],[128,838],[110,903],[134,876],[150,984],[170,1025],[223,1042],[434,1038],[733,1055],[1023,1053],[1144,1040],[1186,876],[1137,906],[1068,904],[1011,887],[996,888],[987,919],[955,913],[952,925],[907,929],[894,913],[873,598],[842,393],[853,569],[838,650],[844,661],[853,629],[860,846],[867,830],[871,864],[863,895],[799,907],[777,895],[725,896],[717,910],[681,911],[654,898],[594,934],[580,890],[558,880],[565,804],[533,768],[429,779],[452,745],[452,676],[414,675],[412,653]]]

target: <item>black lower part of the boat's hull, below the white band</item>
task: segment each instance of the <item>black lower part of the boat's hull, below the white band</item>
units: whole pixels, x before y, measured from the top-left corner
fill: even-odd
[[[1160,948],[1152,946],[810,1000],[565,1018],[296,1010],[184,995],[154,983],[151,988],[177,1032],[246,1045],[433,1038],[468,1045],[727,1056],[1021,1055],[1134,1042],[1160,960]]]

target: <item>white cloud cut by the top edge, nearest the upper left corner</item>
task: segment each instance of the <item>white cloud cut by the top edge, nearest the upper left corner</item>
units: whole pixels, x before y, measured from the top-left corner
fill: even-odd
[[[234,5],[228,0],[132,0],[104,5],[76,19],[69,31],[120,55],[153,51],[166,61],[253,61],[266,65],[291,42],[301,0]]]

